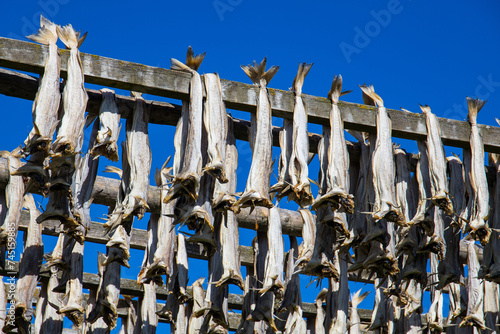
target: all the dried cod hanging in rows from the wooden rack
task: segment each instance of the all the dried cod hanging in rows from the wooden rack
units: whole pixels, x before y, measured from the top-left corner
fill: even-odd
[[[31,326],[41,332],[61,332],[63,316],[86,332],[115,328],[121,266],[129,267],[133,222],[149,209],[149,108],[141,94],[133,92],[135,107],[126,121],[122,168],[106,169],[119,175],[120,186],[104,224],[109,241],[106,254],[98,257],[99,287],[91,292],[84,309],[83,254],[98,157],[118,160],[120,133],[114,92],[102,89],[99,116],[87,141],[89,149],[81,153],[84,125],[94,120],[85,117],[88,97],[78,51],[85,36],[80,37],[71,25],[61,28],[41,17],[39,32],[29,37],[48,45],[44,76],[33,104],[33,130],[22,148],[2,152],[11,174],[0,197],[2,245],[8,242],[11,226],[17,232],[22,207],[30,214],[14,298],[15,327],[22,332],[29,331],[35,313]],[[58,38],[69,49],[62,97]],[[228,284],[234,284],[244,291],[238,333],[303,333],[308,324],[303,318],[298,274],[307,274],[328,280],[328,289],[317,298],[315,332],[358,333],[361,326],[356,307],[365,295],[352,296],[349,316],[348,271],[376,278],[368,330],[416,332],[421,327],[425,289],[431,291],[427,313],[430,331],[460,331],[470,326],[495,329],[498,298],[489,295],[497,289],[491,282],[500,281],[495,256],[500,216],[490,208],[500,182],[488,184],[484,170],[484,149],[476,123],[483,101],[468,98],[471,147],[464,150],[463,162],[456,156],[445,158],[437,118],[428,106],[422,106],[428,136],[425,142],[418,142],[419,157],[413,170],[411,155],[392,143],[391,119],[382,98],[373,86],[361,86],[365,104],[377,108],[377,132],[350,132],[360,147],[356,165],[349,159],[339,106],[339,98],[345,94],[342,77],[335,76],[328,93],[330,123],[323,126],[318,146],[319,193],[314,198],[311,182],[315,181],[308,173],[312,157],[307,106],[302,100],[302,86],[312,64],[300,64],[293,82],[293,119],[284,120],[280,133],[279,178],[273,186],[272,106],[267,85],[278,67],[266,70],[266,59],[242,66],[257,86],[258,97],[249,129],[252,164],[245,191],[239,196],[232,118],[224,106],[218,75],[200,76],[197,72],[203,58],[204,54],[194,55],[190,48],[185,63],[171,60],[173,70],[191,76],[189,100],[183,101],[175,131],[173,166],[168,167],[167,159],[155,173],[161,211],[152,213],[148,223],[148,243],[137,277],[144,294],[135,305],[124,296],[130,308],[129,321],[122,321],[122,332],[154,333],[160,317],[172,324],[175,333],[225,333],[229,328]],[[22,164],[21,158],[27,162]],[[498,179],[498,156],[489,158]],[[43,213],[29,194],[33,191],[48,196]],[[278,200],[287,197],[301,207],[303,241],[297,245],[291,238],[286,258],[280,210],[271,194]],[[267,210],[268,228],[257,231],[254,268],[243,278],[236,214],[242,208],[258,206]],[[54,250],[43,255],[40,224],[48,219],[58,219],[61,229]],[[193,231],[184,233],[187,239],[175,233],[176,226],[184,225]],[[459,262],[462,234],[467,234],[466,288],[464,266]],[[485,248],[482,265],[474,239]],[[203,279],[195,281],[188,292],[186,241],[203,245],[210,257],[206,292]],[[42,257],[46,260],[43,266]],[[51,275],[42,281],[34,312],[31,296],[41,271]],[[164,308],[157,311],[156,286],[160,284],[165,284],[170,294]],[[450,293],[447,319],[442,315],[443,288]],[[9,326],[4,331],[10,330]]]

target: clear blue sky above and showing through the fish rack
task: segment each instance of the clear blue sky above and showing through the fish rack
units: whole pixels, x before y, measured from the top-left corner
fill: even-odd
[[[345,101],[361,102],[357,85],[373,83],[389,108],[420,112],[418,103],[428,104],[438,116],[465,120],[465,97],[477,96],[488,100],[479,123],[496,125],[494,117],[500,117],[498,1],[23,1],[3,6],[0,35],[26,40],[24,36],[38,28],[41,12],[58,24],[71,23],[88,31],[80,49],[86,53],[168,68],[170,58],[184,60],[191,45],[196,53],[207,54],[200,72],[218,72],[224,79],[246,83],[250,80],[240,65],[267,56],[269,65],[280,66],[269,85],[279,89],[292,85],[299,62],[313,62],[303,89],[307,94],[326,96],[333,76],[340,73],[344,89],[354,91]],[[31,104],[0,95],[0,150],[12,150],[23,142],[32,126]],[[233,115],[249,118],[243,112]],[[274,122],[281,124],[279,119]],[[173,131],[173,127],[150,126],[153,170],[173,153]],[[312,125],[310,131],[321,129]],[[415,143],[394,141],[416,152]],[[238,148],[238,190],[243,190],[251,152],[244,142]],[[461,153],[447,149],[451,151]],[[100,171],[106,164],[101,158]],[[310,175],[316,178],[316,162]],[[281,207],[294,208],[285,203]],[[103,208],[93,210],[94,220],[104,213]],[[146,219],[136,226],[145,228]],[[254,234],[242,233],[241,243],[250,245]],[[46,251],[52,244],[47,238]],[[104,251],[88,247],[85,262],[86,269],[94,272],[95,248]],[[124,272],[129,278],[135,277],[142,260],[142,252],[132,255],[137,263]],[[198,264],[192,263],[192,267]],[[203,267],[206,262],[200,263]],[[206,274],[192,271],[190,282],[199,275]],[[317,293],[312,285],[304,291],[303,299],[309,302]],[[373,295],[360,307],[371,308]]]

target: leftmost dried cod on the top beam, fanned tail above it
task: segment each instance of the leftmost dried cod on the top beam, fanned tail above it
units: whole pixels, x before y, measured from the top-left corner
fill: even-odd
[[[61,59],[57,49],[57,25],[40,15],[40,29],[35,35],[27,38],[48,45],[48,55],[45,60],[43,76],[33,102],[33,129],[24,141],[24,154],[30,155],[38,151],[43,152],[41,159],[35,159],[34,164],[42,166],[43,160],[49,153],[50,143],[57,126],[57,113],[61,101],[59,88],[59,72]]]

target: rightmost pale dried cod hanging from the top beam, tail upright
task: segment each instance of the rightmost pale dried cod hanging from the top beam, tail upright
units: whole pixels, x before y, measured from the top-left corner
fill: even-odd
[[[474,191],[474,207],[469,221],[471,234],[484,246],[488,243],[491,229],[488,227],[490,214],[488,182],[484,170],[484,147],[479,128],[477,126],[477,113],[486,101],[467,97],[469,114],[467,119],[471,125],[470,147],[471,159],[471,186]]]

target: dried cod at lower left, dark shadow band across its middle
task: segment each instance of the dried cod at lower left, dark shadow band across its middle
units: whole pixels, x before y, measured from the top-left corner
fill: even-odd
[[[40,212],[31,194],[24,196],[24,206],[29,210],[30,222],[24,243],[24,251],[19,263],[19,279],[14,295],[16,325],[28,332],[33,315],[32,298],[38,281],[43,259],[42,227],[36,222]]]

